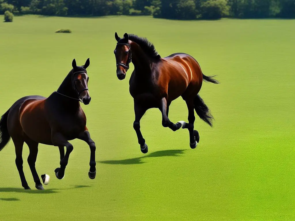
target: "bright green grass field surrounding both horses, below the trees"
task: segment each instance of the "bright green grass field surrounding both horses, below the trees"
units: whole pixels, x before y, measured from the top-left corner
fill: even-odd
[[[65,178],[58,180],[57,147],[40,145],[36,168],[51,176],[44,191],[24,191],[13,143],[0,152],[0,220],[294,220],[295,20],[169,21],[150,17],[15,17],[0,22],[0,115],[25,95],[48,96],[71,69],[90,57],[83,106],[96,142],[97,175],[88,178],[90,150],[71,143]],[[71,29],[71,34],[55,30]],[[147,37],[162,57],[186,52],[205,75],[200,95],[214,127],[196,118],[200,143],[187,130],[161,125],[149,110],[140,152],[128,80],[116,76],[114,33]],[[187,120],[185,102],[172,103],[171,121]]]

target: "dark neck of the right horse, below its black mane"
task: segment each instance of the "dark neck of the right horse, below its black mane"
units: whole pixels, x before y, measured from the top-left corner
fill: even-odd
[[[130,41],[132,51],[132,63],[134,65],[135,75],[139,78],[150,77],[152,59],[135,42]]]

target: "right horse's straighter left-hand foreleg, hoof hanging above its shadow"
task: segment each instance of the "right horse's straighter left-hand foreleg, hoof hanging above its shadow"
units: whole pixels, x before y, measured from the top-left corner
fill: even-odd
[[[135,121],[133,122],[133,128],[136,132],[138,144],[140,144],[140,150],[142,153],[146,154],[148,152],[148,145],[145,143],[145,139],[142,137],[141,131],[140,131],[140,119],[145,114],[145,111],[147,109],[138,105],[134,101],[134,113],[135,113]]]

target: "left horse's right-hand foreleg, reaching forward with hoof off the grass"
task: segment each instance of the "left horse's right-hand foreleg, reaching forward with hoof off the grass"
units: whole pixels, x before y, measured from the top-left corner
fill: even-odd
[[[81,133],[78,136],[78,139],[85,141],[89,147],[90,147],[90,169],[88,172],[88,176],[90,179],[94,179],[96,176],[96,162],[95,162],[95,150],[96,150],[96,146],[94,141],[90,138],[90,133],[89,131],[84,131],[83,133]]]

